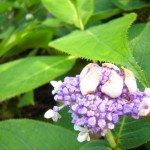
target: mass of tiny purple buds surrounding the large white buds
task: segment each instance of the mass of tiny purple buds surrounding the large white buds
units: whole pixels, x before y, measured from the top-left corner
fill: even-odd
[[[94,92],[83,95],[80,89],[82,79],[80,75],[77,75],[64,79],[54,99],[70,108],[69,113],[74,125],[86,126],[90,133],[105,136],[107,129],[114,129],[120,116],[130,115],[138,119],[138,108],[146,94],[138,89],[135,92],[129,92],[125,84],[125,73],[119,69],[106,65],[100,67],[100,70],[99,84]],[[117,73],[123,80],[122,92],[115,98],[102,92],[103,85],[109,84],[112,72]]]

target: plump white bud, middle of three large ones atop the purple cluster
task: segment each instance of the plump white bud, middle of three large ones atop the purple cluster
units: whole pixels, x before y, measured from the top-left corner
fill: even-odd
[[[101,91],[111,98],[117,98],[121,95],[123,89],[123,79],[112,70],[110,78],[102,86]]]

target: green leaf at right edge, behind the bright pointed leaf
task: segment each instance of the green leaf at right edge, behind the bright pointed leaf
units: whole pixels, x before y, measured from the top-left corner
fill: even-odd
[[[135,25],[129,33],[129,46],[150,86],[150,23]]]

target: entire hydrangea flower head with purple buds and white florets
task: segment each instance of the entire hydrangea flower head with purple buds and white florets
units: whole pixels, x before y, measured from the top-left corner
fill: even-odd
[[[80,131],[79,142],[89,141],[89,134],[105,136],[107,129],[115,128],[120,116],[130,115],[138,119],[145,103],[150,108],[146,100],[148,95],[137,88],[132,71],[123,67],[121,71],[111,63],[102,66],[90,63],[80,75],[65,77],[63,82],[52,81],[51,84],[54,86],[54,100],[69,107],[74,129]],[[48,110],[45,117],[57,121],[59,110]]]

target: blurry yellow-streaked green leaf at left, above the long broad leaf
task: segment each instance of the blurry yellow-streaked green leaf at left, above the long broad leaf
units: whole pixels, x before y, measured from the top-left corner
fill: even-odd
[[[6,52],[8,56],[17,54],[28,48],[45,48],[52,38],[52,31],[47,27],[34,27],[33,24],[25,29],[13,32],[0,43],[0,56]],[[14,48],[14,49],[13,49]]]

